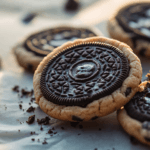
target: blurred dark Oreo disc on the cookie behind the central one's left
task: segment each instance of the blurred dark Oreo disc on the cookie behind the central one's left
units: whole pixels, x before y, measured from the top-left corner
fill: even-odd
[[[38,56],[46,56],[54,48],[68,41],[92,36],[96,35],[88,29],[60,27],[31,35],[26,39],[24,46]]]

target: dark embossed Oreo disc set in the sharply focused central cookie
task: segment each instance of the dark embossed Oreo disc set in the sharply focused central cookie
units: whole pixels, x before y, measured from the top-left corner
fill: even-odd
[[[59,105],[86,106],[121,87],[129,64],[117,48],[79,44],[53,58],[41,76],[44,97]]]

